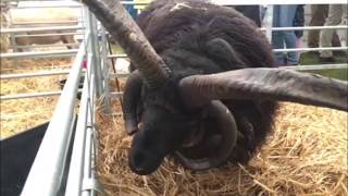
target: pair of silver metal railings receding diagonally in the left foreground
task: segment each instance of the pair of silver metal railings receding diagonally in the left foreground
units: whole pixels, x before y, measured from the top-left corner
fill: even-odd
[[[95,159],[97,156],[97,132],[95,126],[97,102],[96,99],[98,98],[97,85],[102,84],[102,82],[97,81],[96,78],[98,76],[98,72],[101,72],[100,61],[97,60],[97,58],[100,57],[98,57],[98,53],[94,53],[96,52],[96,49],[94,47],[98,47],[98,35],[96,34],[96,30],[91,29],[94,27],[96,28],[96,25],[92,24],[96,23],[94,21],[95,19],[91,17],[87,9],[85,10],[85,16],[86,29],[88,29],[86,34],[88,34],[88,38],[85,37],[83,45],[78,49],[78,53],[74,61],[72,72],[65,84],[65,86],[71,86],[73,85],[72,83],[74,83],[74,85],[78,83],[75,78],[77,66],[76,64],[79,64],[78,68],[80,71],[83,60],[87,59],[87,70],[85,72],[85,82],[82,90],[83,94],[79,103],[79,112],[75,133],[66,128],[66,124],[72,123],[72,121],[69,121],[71,114],[67,114],[67,117],[65,114],[64,117],[61,113],[63,110],[69,113],[72,112],[71,109],[67,109],[67,105],[61,106],[62,100],[72,99],[72,97],[66,97],[66,89],[64,87],[63,93],[59,99],[59,103],[57,105],[54,114],[52,117],[52,121],[47,130],[48,136],[45,136],[42,140],[22,195],[96,195],[97,192],[102,192],[102,186],[98,182],[96,172],[94,171],[96,164]],[[82,53],[84,54],[82,56]],[[71,82],[72,79],[73,82]],[[102,77],[99,76],[98,79],[102,79]],[[74,96],[76,96],[76,89],[74,90]],[[71,90],[70,94],[72,94]],[[72,102],[69,102],[69,107],[74,108],[73,106],[71,106]],[[57,113],[60,114],[60,118]],[[60,119],[60,124],[58,124],[58,119]],[[55,132],[57,130],[64,131],[60,134],[52,134],[51,132],[53,127]],[[47,158],[45,159],[45,156],[47,155],[45,152],[41,152],[40,150],[42,148],[45,149],[42,151],[47,151],[48,148],[50,148],[48,147],[48,144],[50,143],[49,140],[53,139],[51,135],[55,135],[55,138],[60,138],[60,140],[63,140],[57,144],[57,147],[54,147],[53,149],[53,151],[61,149],[61,154],[58,155],[62,155],[63,152],[65,152],[66,149],[63,146],[70,146],[70,140],[73,142],[71,145],[71,156],[66,158],[66,154],[64,154],[62,156],[54,157],[53,160],[47,160]],[[58,167],[58,162],[64,166],[64,168]],[[44,169],[44,173],[50,172],[49,175],[39,172],[39,170],[42,171],[42,166],[47,167]],[[63,171],[66,171],[66,174],[64,173],[64,177],[66,177],[66,181],[64,177],[62,177],[61,172]],[[57,179],[58,176],[60,176],[59,180]],[[38,181],[38,179],[41,179],[41,181]],[[45,181],[45,183],[42,181]],[[48,186],[48,188],[34,188],[34,182],[42,182],[42,185]]]

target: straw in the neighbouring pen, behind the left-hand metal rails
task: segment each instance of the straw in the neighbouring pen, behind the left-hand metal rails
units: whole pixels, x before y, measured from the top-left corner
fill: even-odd
[[[10,60],[1,59],[1,74],[35,73],[69,69],[70,58],[23,59],[17,68]],[[1,95],[15,95],[38,91],[59,90],[59,81],[66,76],[27,77],[21,79],[1,79]],[[57,97],[4,100],[0,103],[1,138],[20,133],[50,120]]]

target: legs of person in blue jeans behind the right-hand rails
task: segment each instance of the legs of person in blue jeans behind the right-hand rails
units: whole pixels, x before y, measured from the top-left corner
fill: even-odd
[[[297,4],[282,4],[273,7],[273,27],[291,27]],[[272,45],[274,49],[296,48],[296,36],[294,30],[282,30],[272,33]],[[275,58],[278,65],[297,65],[297,52],[276,52]]]

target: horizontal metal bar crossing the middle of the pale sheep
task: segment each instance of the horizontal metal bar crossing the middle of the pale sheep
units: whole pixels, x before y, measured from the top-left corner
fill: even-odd
[[[51,27],[30,27],[30,28],[2,28],[0,34],[28,33],[28,32],[49,32],[49,30],[77,30],[84,29],[83,26],[51,26]]]

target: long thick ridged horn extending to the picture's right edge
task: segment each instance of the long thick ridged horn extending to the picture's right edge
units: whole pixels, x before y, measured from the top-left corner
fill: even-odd
[[[192,75],[179,82],[181,96],[191,107],[213,99],[291,101],[348,111],[348,83],[282,69],[244,69]]]

